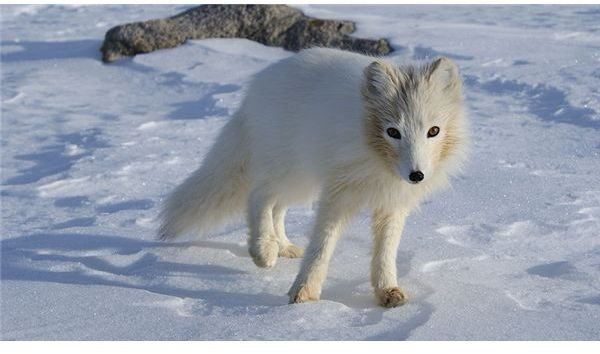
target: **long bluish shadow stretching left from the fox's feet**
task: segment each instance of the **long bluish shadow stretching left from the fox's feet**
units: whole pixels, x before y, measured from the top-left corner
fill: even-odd
[[[203,247],[245,253],[242,246],[215,241],[165,243],[119,236],[89,234],[33,234],[4,240],[1,248],[1,279],[61,284],[106,285],[145,290],[179,298],[202,299],[218,307],[277,306],[287,297],[267,293],[243,294],[219,290],[195,290],[169,285],[164,278],[210,277],[227,280],[246,272],[208,264],[182,264],[161,260],[161,249]],[[115,265],[98,253],[141,256],[130,264]],[[79,254],[79,255],[78,255]],[[51,270],[48,262],[66,267]]]

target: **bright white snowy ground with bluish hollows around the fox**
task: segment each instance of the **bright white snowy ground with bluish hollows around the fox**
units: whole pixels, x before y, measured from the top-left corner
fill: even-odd
[[[248,79],[290,55],[206,40],[99,61],[110,27],[184,8],[0,7],[2,339],[600,339],[600,7],[301,6],[465,78],[471,162],[410,217],[391,310],[367,214],[305,305],[286,304],[299,260],[257,269],[243,223],[154,240]],[[312,220],[292,211],[295,242]]]

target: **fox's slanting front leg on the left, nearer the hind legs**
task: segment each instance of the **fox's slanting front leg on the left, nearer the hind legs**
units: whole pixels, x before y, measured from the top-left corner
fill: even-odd
[[[319,300],[335,244],[358,207],[356,198],[345,189],[323,193],[302,267],[288,292],[290,303]]]

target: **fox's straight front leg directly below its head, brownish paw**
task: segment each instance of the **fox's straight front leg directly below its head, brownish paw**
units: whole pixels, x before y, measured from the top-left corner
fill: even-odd
[[[407,212],[405,210],[373,213],[374,247],[371,260],[371,283],[379,305],[396,307],[406,302],[396,278],[396,254]]]

